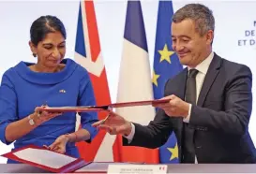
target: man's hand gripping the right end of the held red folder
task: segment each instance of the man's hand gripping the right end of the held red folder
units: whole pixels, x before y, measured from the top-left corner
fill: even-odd
[[[162,99],[171,99],[169,103],[155,104],[154,107],[163,109],[170,117],[183,117],[188,116],[189,104],[174,94],[163,97]]]

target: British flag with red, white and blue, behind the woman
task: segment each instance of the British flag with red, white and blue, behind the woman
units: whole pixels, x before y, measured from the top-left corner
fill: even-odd
[[[82,1],[79,7],[75,61],[83,65],[90,75],[97,105],[111,103],[105,65],[102,59],[96,13],[93,1]],[[103,119],[105,113],[99,113]],[[100,131],[91,143],[79,142],[77,146],[85,161],[119,161],[115,136]]]

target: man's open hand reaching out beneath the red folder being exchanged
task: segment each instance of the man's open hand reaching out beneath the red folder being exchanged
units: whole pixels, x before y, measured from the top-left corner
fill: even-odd
[[[98,129],[106,130],[111,135],[122,134],[128,136],[131,131],[131,123],[111,110],[109,110],[109,116],[106,120],[98,121],[92,125],[98,127]]]

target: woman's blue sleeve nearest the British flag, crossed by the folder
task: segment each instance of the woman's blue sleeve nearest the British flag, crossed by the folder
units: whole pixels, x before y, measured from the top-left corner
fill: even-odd
[[[80,81],[78,105],[79,106],[95,106],[96,105],[92,83],[87,72],[86,72],[86,75],[83,77],[83,79]],[[81,115],[82,128],[86,129],[91,135],[91,138],[88,140],[88,142],[90,142],[98,134],[97,128],[92,126],[92,123],[98,122],[98,113],[95,111],[90,111],[90,112],[81,112],[79,114]]]

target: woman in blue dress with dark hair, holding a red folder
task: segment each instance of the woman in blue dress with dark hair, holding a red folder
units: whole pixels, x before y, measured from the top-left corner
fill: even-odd
[[[83,112],[77,130],[76,113],[39,112],[50,107],[93,106],[95,96],[87,71],[65,58],[66,29],[56,17],[32,23],[29,46],[37,64],[20,62],[9,68],[0,86],[0,139],[14,150],[34,144],[79,157],[75,142],[90,142],[98,131],[96,112]],[[8,163],[15,163],[8,160]]]

